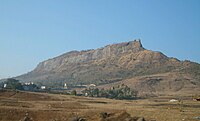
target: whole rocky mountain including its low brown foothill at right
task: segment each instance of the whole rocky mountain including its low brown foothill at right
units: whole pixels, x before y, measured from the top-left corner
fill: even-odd
[[[63,82],[93,83],[108,88],[127,83],[144,94],[199,91],[200,65],[147,50],[140,40],[134,40],[96,50],[71,51],[39,63],[33,71],[16,79],[54,86]]]

